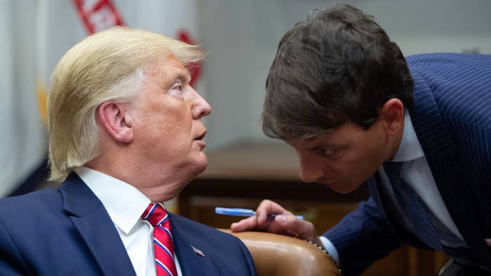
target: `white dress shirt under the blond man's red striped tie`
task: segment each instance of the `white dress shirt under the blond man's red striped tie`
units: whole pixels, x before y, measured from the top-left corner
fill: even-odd
[[[150,200],[137,188],[88,167],[77,167],[76,174],[104,205],[128,252],[138,276],[155,276],[154,228],[140,218]],[[182,271],[175,256],[177,274]]]

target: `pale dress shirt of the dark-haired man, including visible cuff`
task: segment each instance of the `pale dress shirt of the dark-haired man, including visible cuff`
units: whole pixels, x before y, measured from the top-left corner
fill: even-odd
[[[419,144],[415,129],[412,126],[408,111],[404,114],[404,132],[401,144],[391,162],[403,163],[401,165],[401,178],[415,190],[419,198],[429,209],[429,216],[436,233],[438,233],[440,242],[448,247],[467,247],[438,191],[435,179],[433,178],[433,174],[431,174],[430,167],[424,156],[424,151],[421,144]],[[412,226],[404,218],[401,209],[398,207],[390,181],[383,167],[379,169],[379,175],[382,180],[383,191],[381,192],[387,195],[387,198],[391,201],[391,205],[395,207],[393,209],[399,213],[398,217],[401,219],[403,226],[407,226],[411,230]],[[321,236],[320,238],[326,251],[328,251],[339,265],[339,254],[334,244],[326,237]]]

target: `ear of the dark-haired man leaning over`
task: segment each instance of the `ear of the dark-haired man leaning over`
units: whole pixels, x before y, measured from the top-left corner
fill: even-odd
[[[380,118],[389,135],[398,134],[404,128],[404,104],[400,99],[389,99],[382,106]]]

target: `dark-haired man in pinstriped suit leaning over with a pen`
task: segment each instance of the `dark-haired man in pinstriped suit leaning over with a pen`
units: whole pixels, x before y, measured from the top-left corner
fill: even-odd
[[[321,237],[269,200],[232,230],[322,243],[345,275],[403,242],[491,273],[490,55],[405,58],[370,15],[335,6],[283,36],[266,90],[264,133],[295,148],[302,180],[370,198]]]

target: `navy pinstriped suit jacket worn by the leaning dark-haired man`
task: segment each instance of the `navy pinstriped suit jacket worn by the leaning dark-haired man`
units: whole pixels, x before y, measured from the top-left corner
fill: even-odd
[[[451,53],[407,57],[415,83],[412,124],[445,206],[474,258],[491,269],[491,55]],[[429,248],[409,233],[379,193],[324,233],[345,275],[358,275],[403,242]]]

